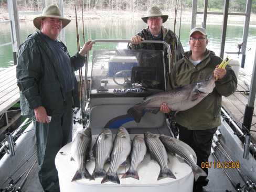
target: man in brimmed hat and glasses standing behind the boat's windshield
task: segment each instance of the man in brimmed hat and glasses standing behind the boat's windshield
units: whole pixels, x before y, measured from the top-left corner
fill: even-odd
[[[184,54],[182,44],[172,30],[163,26],[163,23],[165,23],[167,19],[168,15],[164,15],[158,7],[152,7],[148,10],[147,15],[142,17],[143,22],[145,22],[148,27],[142,29],[137,35],[131,38],[132,43],[129,47],[131,49],[164,50],[165,63],[167,63],[167,50],[162,44],[140,44],[143,40],[162,40],[167,42],[167,44],[170,45],[170,49],[174,51],[174,61],[181,59]]]

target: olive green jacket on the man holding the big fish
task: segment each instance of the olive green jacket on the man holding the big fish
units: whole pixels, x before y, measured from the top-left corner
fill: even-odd
[[[169,76],[168,89],[174,89],[187,84],[201,81],[210,76],[221,58],[213,51],[206,50],[205,58],[195,67],[188,59],[191,51],[185,52]],[[237,78],[230,66],[227,74],[215,82],[216,87],[206,98],[193,108],[176,114],[176,122],[189,130],[207,130],[220,125],[221,96],[228,97],[237,88]]]

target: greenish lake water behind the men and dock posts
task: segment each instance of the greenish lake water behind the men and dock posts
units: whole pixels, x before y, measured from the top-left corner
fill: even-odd
[[[82,40],[82,24],[79,23],[80,33],[80,45],[83,44]],[[166,22],[165,27],[173,30],[173,23]],[[142,28],[145,28],[146,24],[142,20],[133,19],[119,19],[119,20],[106,20],[106,19],[93,19],[84,21],[84,31],[86,40],[88,39],[130,39],[131,36],[137,33]],[[208,49],[215,51],[216,55],[220,52],[221,41],[221,27],[222,25],[207,25],[207,33],[209,44]],[[178,35],[179,26],[176,26],[176,34]],[[66,33],[66,45],[73,55],[77,51],[77,39],[76,39],[76,22],[72,22],[65,28]],[[188,35],[190,30],[190,24],[183,24],[180,30],[180,40],[185,51],[189,50]],[[33,22],[21,22],[20,23],[20,36],[23,42],[26,37],[35,31]],[[229,25],[227,28],[226,46],[225,51],[238,51],[237,44],[242,42],[243,25]],[[0,24],[0,44],[10,41],[10,24]],[[252,71],[252,66],[255,56],[255,42],[256,42],[256,26],[250,26],[248,35],[248,49],[250,51],[246,53],[245,70],[249,73]],[[93,46],[94,50],[100,49],[114,49],[116,44],[97,43]],[[122,46],[121,46],[122,47]],[[241,60],[241,56],[229,55],[230,58]],[[226,57],[226,55],[225,55]],[[13,65],[12,46],[0,47],[0,70]]]

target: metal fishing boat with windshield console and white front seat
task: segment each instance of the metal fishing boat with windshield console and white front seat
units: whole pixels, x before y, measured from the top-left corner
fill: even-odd
[[[130,42],[129,40],[94,40],[95,43]],[[156,42],[156,41],[154,41]],[[159,42],[164,44],[164,42]],[[174,131],[164,114],[146,113],[140,123],[125,116],[127,109],[143,100],[144,97],[166,90],[166,71],[162,51],[153,50],[94,50],[91,68],[84,69],[85,77],[83,104],[81,109],[74,109],[73,134],[84,127],[92,130],[92,140],[104,127],[109,127],[115,134],[121,125],[129,130],[131,137],[151,131],[156,134],[174,135]],[[152,58],[152,56],[154,56]],[[148,62],[154,66],[148,66]],[[169,69],[170,67],[170,63]],[[252,88],[251,88],[252,89]],[[251,90],[250,92],[253,92]],[[255,95],[254,95],[255,97]],[[250,134],[232,120],[222,108],[221,125],[212,142],[209,162],[208,191],[256,191],[256,150],[250,141]],[[2,191],[42,191],[37,176],[34,120],[26,120],[29,126],[20,134],[8,134],[3,148],[6,154],[0,159],[0,188]],[[13,142],[13,137],[17,137]],[[76,165],[70,161],[70,143],[61,148],[56,156],[61,191],[192,191],[193,173],[191,168],[172,155],[168,164],[178,175],[177,179],[157,181],[159,167],[148,154],[144,159],[139,174],[141,180],[120,179],[121,184],[100,184],[99,179],[82,179],[71,182]],[[67,167],[69,167],[67,169]],[[106,166],[108,167],[108,165]],[[87,163],[91,173],[94,162]],[[127,167],[119,169],[123,173]]]

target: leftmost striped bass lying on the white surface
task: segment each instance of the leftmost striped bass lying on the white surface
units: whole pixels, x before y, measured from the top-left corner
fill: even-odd
[[[86,168],[86,160],[90,151],[92,135],[91,129],[87,128],[79,131],[71,145],[71,160],[77,163],[77,172],[74,174],[72,182],[83,178],[93,179]]]

